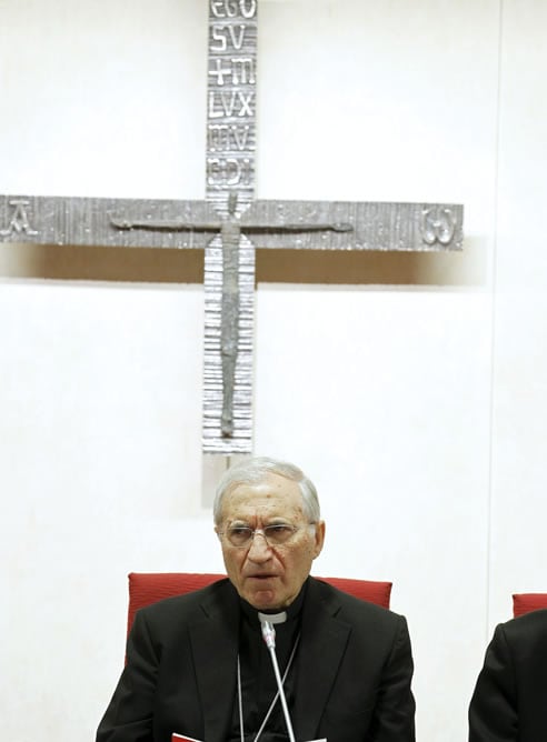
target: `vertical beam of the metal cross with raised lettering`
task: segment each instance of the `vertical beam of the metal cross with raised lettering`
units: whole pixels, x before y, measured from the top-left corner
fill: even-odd
[[[252,450],[256,0],[210,0],[206,199],[223,220],[205,249],[203,452]]]

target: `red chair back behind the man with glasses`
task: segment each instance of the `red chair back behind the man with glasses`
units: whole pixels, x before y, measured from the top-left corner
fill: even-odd
[[[226,574],[205,574],[193,572],[131,572],[129,574],[129,610],[127,630],[133,624],[135,613],[139,608],[156,603],[163,598],[180,595],[221,580]],[[347,578],[318,578],[335,588],[356,598],[389,608],[391,582],[371,582]]]

